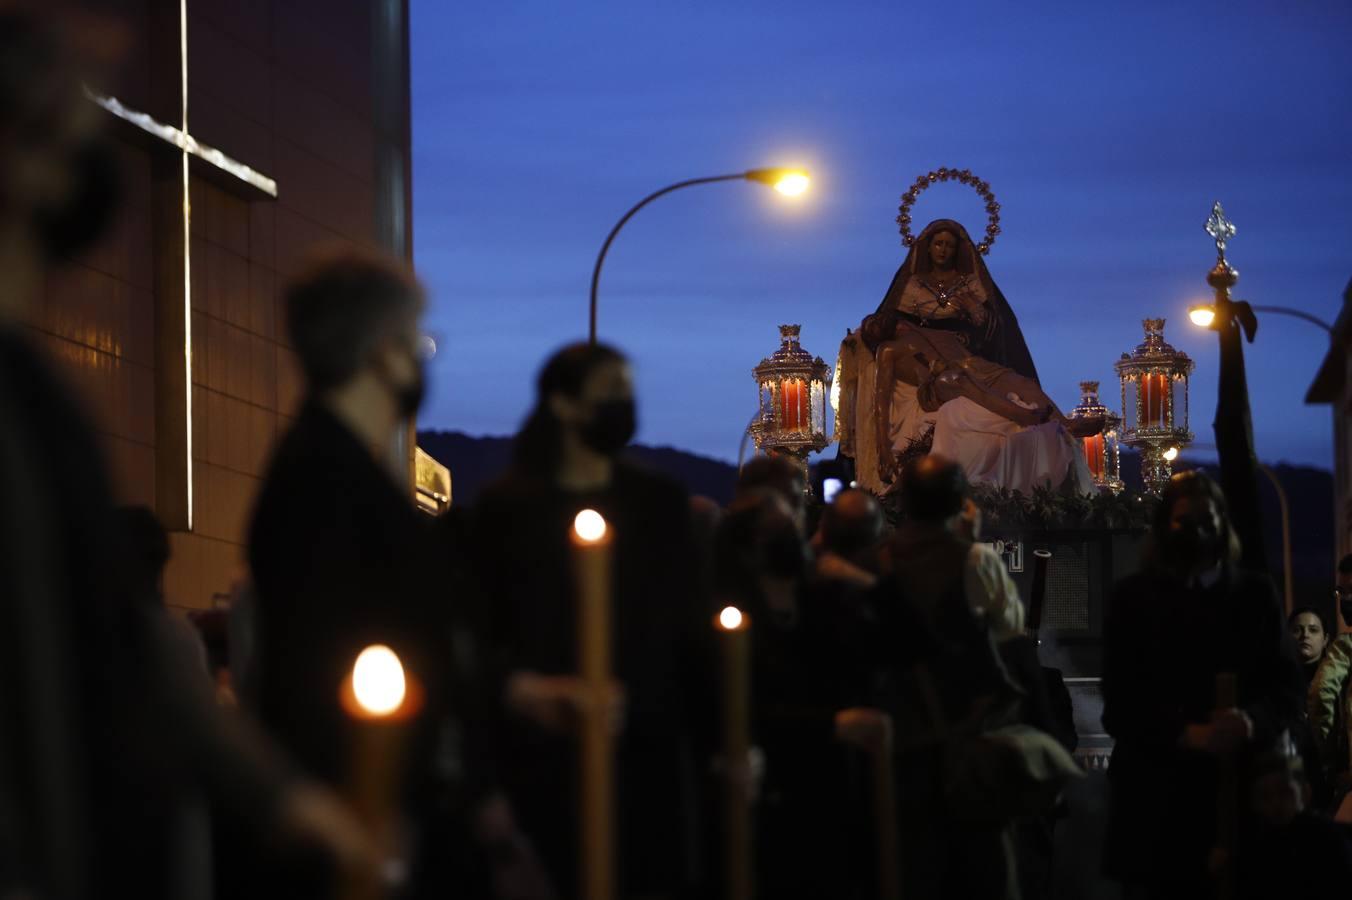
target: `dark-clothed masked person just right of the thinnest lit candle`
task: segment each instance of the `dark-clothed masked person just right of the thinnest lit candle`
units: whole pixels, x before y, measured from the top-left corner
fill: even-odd
[[[869,705],[875,670],[864,604],[813,573],[779,492],[744,488],[718,528],[715,607],[749,614],[752,724],[764,754],[756,885],[767,897],[848,897],[871,884],[873,835],[863,759],[886,734]]]

